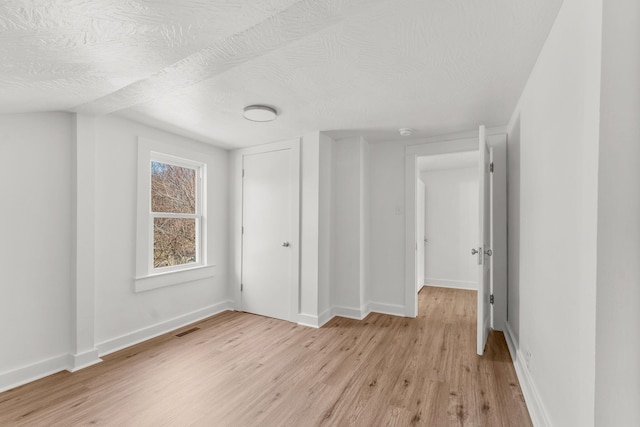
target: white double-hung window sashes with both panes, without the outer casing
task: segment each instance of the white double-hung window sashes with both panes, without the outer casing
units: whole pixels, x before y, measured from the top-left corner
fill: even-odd
[[[200,166],[159,154],[151,159],[153,270],[201,263]]]

